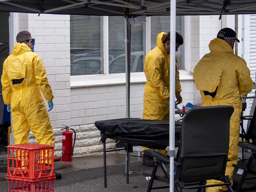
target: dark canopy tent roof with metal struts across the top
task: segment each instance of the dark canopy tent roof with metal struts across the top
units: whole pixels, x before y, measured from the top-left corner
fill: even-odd
[[[127,1],[127,2],[126,2]],[[0,11],[69,15],[170,15],[170,0],[0,0]],[[176,15],[256,13],[256,0],[176,0]]]

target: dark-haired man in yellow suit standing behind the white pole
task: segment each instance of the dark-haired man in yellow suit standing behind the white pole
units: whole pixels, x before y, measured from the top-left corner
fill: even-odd
[[[176,51],[183,44],[183,37],[176,32]],[[176,58],[176,103],[182,102],[180,95],[181,86]],[[169,120],[170,97],[170,32],[161,32],[157,36],[157,46],[145,57],[145,76],[147,83],[144,90],[143,118],[152,120]],[[149,148],[142,147],[143,150]],[[151,149],[152,150],[152,149]],[[167,155],[166,150],[158,150]],[[143,155],[143,163],[147,166],[154,165],[154,159]]]

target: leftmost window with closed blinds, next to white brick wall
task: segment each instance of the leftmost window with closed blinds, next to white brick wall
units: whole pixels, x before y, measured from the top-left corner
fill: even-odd
[[[70,74],[103,73],[100,16],[70,15]]]

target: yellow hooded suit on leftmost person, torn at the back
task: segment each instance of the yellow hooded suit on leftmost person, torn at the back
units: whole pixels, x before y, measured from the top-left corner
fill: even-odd
[[[21,83],[13,85],[13,79],[22,78]],[[11,105],[15,144],[28,143],[31,129],[38,144],[54,146],[52,125],[40,90],[47,101],[53,99],[53,94],[41,57],[25,43],[15,44],[13,54],[4,61],[1,82],[4,103]]]

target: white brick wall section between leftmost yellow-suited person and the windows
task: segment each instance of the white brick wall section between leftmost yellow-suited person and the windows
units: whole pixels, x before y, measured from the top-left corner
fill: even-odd
[[[69,15],[19,13],[19,31],[22,30],[30,31],[35,38],[35,52],[43,59],[52,87],[54,108],[50,119],[56,135],[56,154],[60,155],[59,127],[70,125]]]

